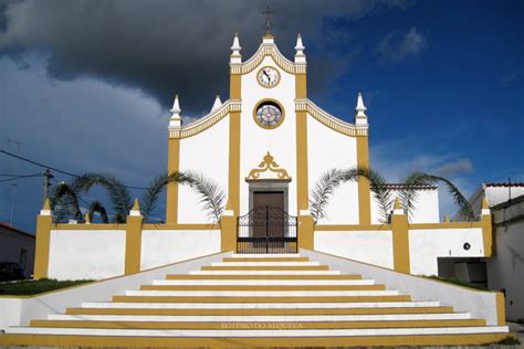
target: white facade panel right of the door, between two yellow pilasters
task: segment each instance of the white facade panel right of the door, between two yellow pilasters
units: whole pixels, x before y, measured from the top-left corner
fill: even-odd
[[[310,194],[324,172],[357,166],[357,141],[339,134],[307,115],[307,167]],[[358,183],[338,187],[319,224],[358,224]]]

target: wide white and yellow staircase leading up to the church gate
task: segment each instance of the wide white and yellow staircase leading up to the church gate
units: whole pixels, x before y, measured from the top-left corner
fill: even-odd
[[[297,254],[233,254],[189,274],[11,327],[3,343],[94,347],[473,345],[505,326]]]

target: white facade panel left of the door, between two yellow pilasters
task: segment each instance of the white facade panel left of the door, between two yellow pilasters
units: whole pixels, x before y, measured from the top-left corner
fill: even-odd
[[[229,116],[200,134],[180,139],[180,171],[187,170],[205,176],[228,193]],[[187,186],[178,188],[178,223],[210,222],[198,193]]]

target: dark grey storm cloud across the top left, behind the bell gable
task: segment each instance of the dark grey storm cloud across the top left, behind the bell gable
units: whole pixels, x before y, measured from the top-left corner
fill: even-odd
[[[356,20],[404,1],[272,1],[275,35],[289,57],[302,32],[308,49],[333,43],[325,19]],[[268,1],[8,1],[0,3],[0,54],[49,53],[48,74],[57,80],[92,76],[143,89],[164,106],[177,92],[182,108],[199,113],[217,93],[227,98],[232,36],[248,59],[263,34]],[[346,44],[345,34],[340,42]],[[347,38],[346,38],[347,39]],[[313,49],[313,51],[315,51]],[[349,57],[317,60],[313,80],[340,73]],[[311,86],[319,88],[312,81]]]

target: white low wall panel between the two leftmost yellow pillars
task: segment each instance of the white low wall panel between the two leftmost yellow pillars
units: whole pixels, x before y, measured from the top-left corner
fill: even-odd
[[[102,279],[124,274],[125,230],[52,230],[50,278]]]

